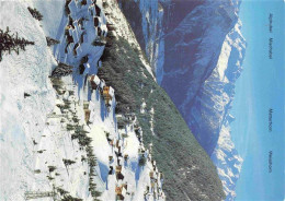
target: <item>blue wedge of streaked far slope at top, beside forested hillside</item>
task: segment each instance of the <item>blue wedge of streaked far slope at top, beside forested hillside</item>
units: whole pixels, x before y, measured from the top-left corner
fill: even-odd
[[[161,83],[164,61],[163,8],[157,0],[118,2],[140,47],[146,51],[157,82]]]

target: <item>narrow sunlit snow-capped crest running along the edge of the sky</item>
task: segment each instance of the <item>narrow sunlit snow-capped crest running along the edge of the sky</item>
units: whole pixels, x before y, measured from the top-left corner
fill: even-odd
[[[218,168],[218,174],[227,194],[226,200],[228,201],[235,200],[236,182],[243,162],[235,149],[230,137],[230,122],[233,120],[233,117],[230,115],[230,108],[235,98],[235,82],[242,71],[242,60],[246,50],[246,40],[241,35],[240,27],[241,22],[238,21],[232,31],[226,36],[217,67],[205,84],[214,85],[214,82],[219,83],[215,87],[223,92],[221,94],[210,93],[213,94],[212,99],[217,96],[214,96],[214,94],[219,94],[219,98],[215,98],[213,110],[220,114],[218,142],[210,157]]]

